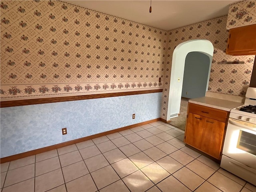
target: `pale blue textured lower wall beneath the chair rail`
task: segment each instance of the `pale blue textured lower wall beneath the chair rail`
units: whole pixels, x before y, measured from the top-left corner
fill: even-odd
[[[1,108],[1,158],[159,118],[161,97],[160,92]]]

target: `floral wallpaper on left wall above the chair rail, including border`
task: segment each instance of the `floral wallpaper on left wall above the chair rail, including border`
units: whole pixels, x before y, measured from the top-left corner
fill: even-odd
[[[1,1],[1,99],[162,88],[168,34],[61,1]]]

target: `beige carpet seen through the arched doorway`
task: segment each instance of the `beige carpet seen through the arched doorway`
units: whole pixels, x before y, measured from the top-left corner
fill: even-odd
[[[180,115],[178,117],[171,118],[171,122],[169,124],[184,131],[186,127],[187,111],[188,111],[188,99],[181,98]]]

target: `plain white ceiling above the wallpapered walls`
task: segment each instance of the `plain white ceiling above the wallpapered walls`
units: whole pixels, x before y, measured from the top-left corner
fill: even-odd
[[[118,16],[162,30],[228,14],[236,0],[65,0],[86,8]]]

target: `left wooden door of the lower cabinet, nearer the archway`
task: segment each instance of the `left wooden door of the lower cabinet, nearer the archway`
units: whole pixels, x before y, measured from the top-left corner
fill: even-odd
[[[200,149],[205,117],[188,113],[184,142]]]

